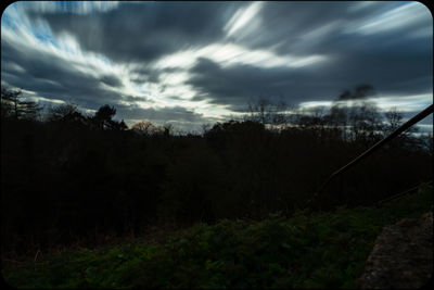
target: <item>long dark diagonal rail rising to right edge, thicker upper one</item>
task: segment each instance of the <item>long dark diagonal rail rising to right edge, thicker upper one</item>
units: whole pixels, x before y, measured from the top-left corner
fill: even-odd
[[[416,123],[418,123],[419,121],[423,119],[424,117],[426,117],[427,115],[433,113],[433,111],[434,111],[433,104],[429,105],[425,110],[423,110],[422,112],[420,112],[419,114],[417,114],[416,116],[413,116],[412,118],[410,118],[409,121],[407,121],[406,123],[400,125],[396,130],[391,133],[383,140],[376,142],[371,148],[369,148],[367,151],[365,151],[363,153],[361,153],[360,155],[355,157],[353,161],[350,161],[348,164],[344,165],[343,167],[341,167],[340,169],[337,169],[336,172],[331,174],[329,176],[329,178],[314,193],[312,198],[307,201],[305,207],[309,207],[316,201],[318,196],[324,190],[324,188],[330,184],[330,181],[332,181],[334,178],[336,178],[336,176],[341,175],[342,173],[346,172],[348,168],[350,168],[354,165],[356,165],[357,163],[359,163],[361,160],[363,160],[363,159],[368,157],[369,155],[371,155],[374,151],[376,151],[378,149],[383,147],[385,143],[387,143],[391,140],[393,140],[394,138],[396,138],[399,134],[401,134],[403,131],[407,130],[408,128],[413,126]]]

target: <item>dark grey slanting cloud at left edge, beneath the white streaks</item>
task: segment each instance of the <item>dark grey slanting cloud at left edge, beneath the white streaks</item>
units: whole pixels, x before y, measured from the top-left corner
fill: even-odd
[[[86,66],[48,51],[26,47],[3,37],[1,42],[2,79],[14,87],[36,92],[39,97],[74,100],[82,106],[94,108],[102,100],[116,102],[119,92],[106,89],[103,83],[119,85],[116,76],[92,74]],[[99,72],[100,73],[100,72]],[[103,83],[101,81],[103,80]]]

